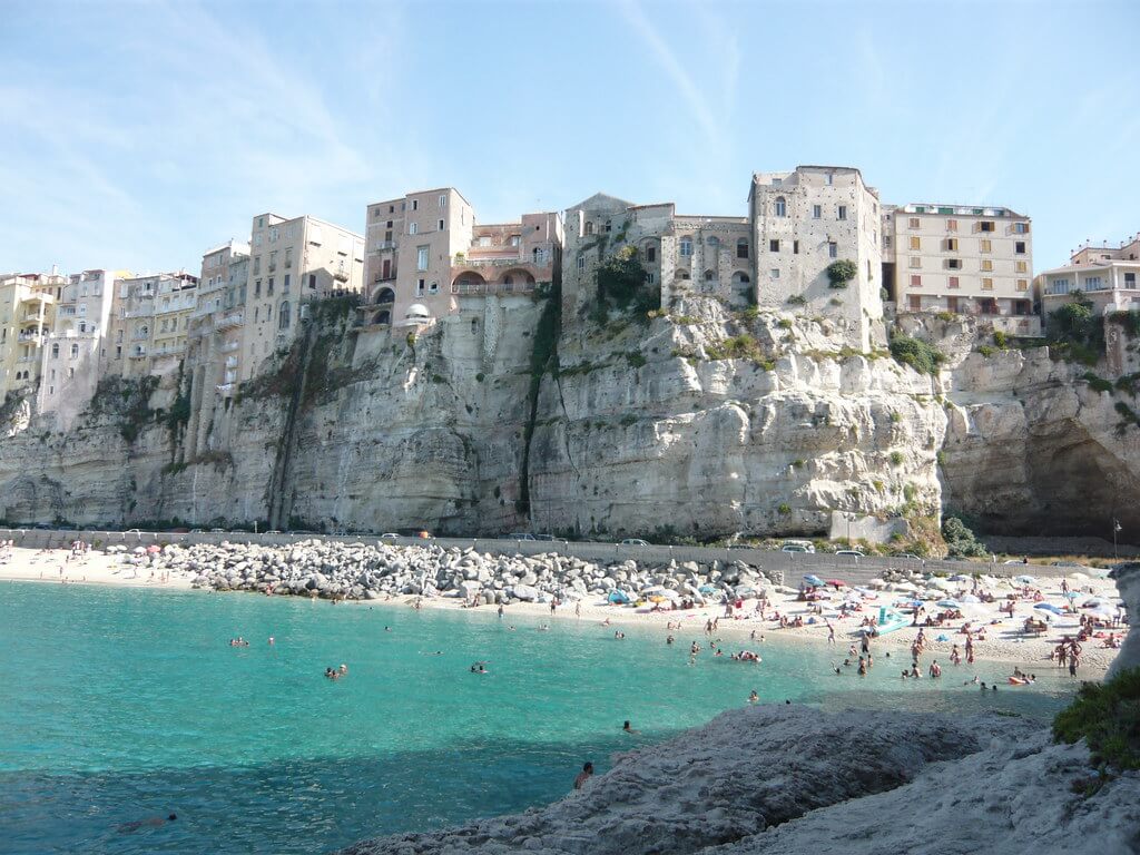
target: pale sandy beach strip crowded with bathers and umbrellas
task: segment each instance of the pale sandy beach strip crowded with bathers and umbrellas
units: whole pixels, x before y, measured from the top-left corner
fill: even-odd
[[[164,578],[161,575],[152,573],[148,569],[133,565],[129,557],[129,555],[105,554],[96,551],[71,557],[68,549],[13,547],[0,554],[0,579],[168,589],[190,587],[190,573],[173,571]],[[1093,597],[1102,597],[1114,604],[1118,601],[1118,593],[1110,579],[1068,577],[1067,581],[1070,589],[1080,593],[1078,603]],[[1034,587],[1041,591],[1043,602],[1060,605],[1066,602],[1060,584],[1060,578],[1039,579]],[[834,595],[840,596],[839,592],[834,592]],[[689,644],[697,640],[702,646],[707,646],[709,641],[705,633],[707,621],[717,620],[712,637],[723,640],[720,648],[725,656],[738,652],[738,650],[754,650],[763,657],[763,644],[768,640],[780,640],[832,646],[836,650],[837,660],[842,660],[847,657],[852,643],[857,644],[860,622],[863,617],[877,613],[880,604],[890,605],[898,596],[898,594],[890,592],[878,592],[874,600],[866,601],[863,611],[854,612],[848,617],[839,617],[834,609],[824,608],[824,616],[836,628],[833,644],[828,642],[829,630],[823,620],[811,613],[808,603],[797,601],[796,594],[791,593],[773,593],[768,601],[765,619],[760,619],[756,612],[757,601],[755,600],[746,600],[742,609],[733,610],[733,617],[725,616],[724,605],[709,604],[690,610],[649,611],[644,608],[635,609],[602,603],[596,598],[567,602],[560,604],[554,612],[551,611],[548,603],[514,603],[506,606],[506,614],[521,614],[536,619],[553,617],[556,620],[585,620],[598,625],[604,621],[610,621],[614,626],[637,625],[660,632],[662,638],[671,633],[679,644]],[[393,596],[389,601],[378,602],[402,604],[410,608],[417,600],[422,602],[424,608],[430,609],[464,609],[461,600],[448,596],[423,598]],[[352,601],[349,601],[347,604],[351,603]],[[1027,635],[1023,632],[1025,618],[1031,613],[1034,617],[1043,616],[1042,611],[1034,609],[1032,601],[1021,600],[1017,604],[1013,618],[1010,619],[997,611],[997,605],[996,602],[963,604],[963,619],[946,621],[940,627],[927,628],[925,633],[927,646],[922,656],[923,667],[928,667],[933,660],[938,660],[944,667],[950,666],[950,656],[954,644],[958,644],[959,650],[963,651],[964,635],[961,628],[968,620],[974,628],[984,626],[986,630],[984,641],[975,641],[976,659],[1009,662],[1020,666],[1028,673],[1047,668],[1059,669],[1059,666],[1050,660],[1050,652],[1064,636],[1076,635],[1080,628],[1078,616],[1050,614],[1045,633]],[[934,612],[939,611],[934,603],[927,603],[927,606]],[[482,605],[473,611],[494,617],[496,606]],[[798,628],[781,628],[779,621],[772,619],[773,613],[787,616],[792,620],[803,617],[805,624]],[[814,622],[807,622],[813,617]],[[681,628],[670,630],[669,624],[673,624],[674,627],[679,624]],[[1115,632],[1123,634],[1126,630],[1127,626],[1123,625]],[[874,641],[874,650],[904,651],[904,654],[898,659],[909,659],[906,652],[909,652],[917,633],[917,628],[904,627],[881,635]],[[1083,643],[1080,677],[1099,677],[1115,658],[1117,651],[1104,646],[1102,642],[1104,640],[1094,637]],[[857,656],[853,661],[857,661]]]

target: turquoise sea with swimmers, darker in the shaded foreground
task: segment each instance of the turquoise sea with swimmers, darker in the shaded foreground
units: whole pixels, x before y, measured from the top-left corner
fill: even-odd
[[[742,706],[1051,715],[1049,677],[996,697],[877,658],[781,644],[764,663],[702,654],[692,632],[251,594],[0,585],[0,853],[319,853],[515,812],[564,795],[583,762]],[[514,626],[512,630],[510,627]],[[242,635],[249,648],[230,648]],[[267,640],[275,636],[276,643]],[[701,638],[703,642],[703,638]],[[731,642],[724,645],[727,653]],[[441,651],[435,656],[435,651]],[[488,674],[471,674],[475,660]],[[332,682],[327,666],[345,662]],[[899,665],[901,667],[901,665]],[[638,735],[621,733],[630,719]],[[177,813],[133,833],[116,826]]]

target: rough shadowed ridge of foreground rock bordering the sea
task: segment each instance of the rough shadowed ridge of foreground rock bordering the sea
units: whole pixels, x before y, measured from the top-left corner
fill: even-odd
[[[1032,725],[997,717],[837,716],[780,705],[731,710],[674,740],[618,756],[605,775],[548,807],[361,842],[345,855],[681,855],[725,844],[732,844],[725,853],[744,850],[766,829],[894,790],[929,764],[988,749],[995,736],[1039,746]],[[968,785],[994,798],[983,781]],[[912,825],[922,803],[909,808]],[[828,849],[783,849],[815,850]]]

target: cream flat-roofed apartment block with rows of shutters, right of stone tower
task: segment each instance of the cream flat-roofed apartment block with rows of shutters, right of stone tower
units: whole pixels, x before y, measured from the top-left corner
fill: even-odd
[[[885,274],[898,311],[948,311],[1040,335],[1028,217],[1008,207],[909,204],[883,214]]]

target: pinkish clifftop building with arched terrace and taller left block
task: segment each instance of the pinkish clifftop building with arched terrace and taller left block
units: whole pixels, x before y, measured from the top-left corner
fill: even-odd
[[[454,187],[368,205],[366,298],[369,325],[418,324],[458,310],[461,296],[529,293],[559,269],[555,212],[478,223]]]

